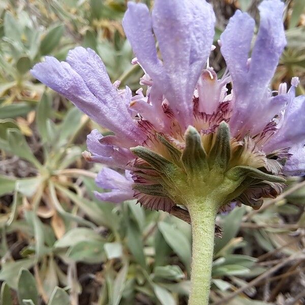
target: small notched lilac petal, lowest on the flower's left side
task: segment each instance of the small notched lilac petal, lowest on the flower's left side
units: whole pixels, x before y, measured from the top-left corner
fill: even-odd
[[[103,168],[96,178],[96,184],[100,188],[111,190],[106,193],[95,192],[100,200],[119,203],[133,199],[133,180],[128,171],[123,176],[110,168]]]

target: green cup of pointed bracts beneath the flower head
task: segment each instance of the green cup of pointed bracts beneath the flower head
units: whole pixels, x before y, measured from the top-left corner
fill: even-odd
[[[131,148],[133,154],[144,161],[136,162],[134,173],[155,182],[134,184],[134,190],[147,195],[168,197],[182,205],[191,198],[209,197],[218,201],[219,208],[234,200],[258,208],[261,201],[248,200],[244,194],[248,189],[285,182],[285,178],[268,173],[265,168],[238,165],[240,155],[231,153],[234,148],[224,122],[210,137],[208,153],[202,136],[191,126],[185,133],[185,147],[181,150],[160,134],[158,140],[166,150],[166,157],[143,146]]]

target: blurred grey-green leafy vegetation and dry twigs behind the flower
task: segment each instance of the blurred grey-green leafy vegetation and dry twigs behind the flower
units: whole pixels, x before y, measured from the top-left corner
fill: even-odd
[[[142,1],[148,6],[153,1]],[[215,41],[237,8],[257,17],[255,0],[215,0]],[[299,76],[304,94],[305,1],[286,1],[288,46],[273,88]],[[134,201],[93,196],[101,165],[81,152],[99,128],[46,88],[29,69],[82,45],[103,59],[112,81],[138,88],[141,71],[124,36],[124,0],[0,2],[0,304],[186,304],[191,227]],[[221,72],[219,47],[210,64]],[[103,133],[107,131],[101,130]],[[305,182],[290,178],[262,208],[220,216],[211,300],[227,305],[305,303]]]

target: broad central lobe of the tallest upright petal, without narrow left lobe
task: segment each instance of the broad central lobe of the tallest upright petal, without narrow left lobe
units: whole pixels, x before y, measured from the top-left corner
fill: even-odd
[[[193,123],[192,96],[210,52],[215,15],[205,0],[156,0],[152,18],[166,74],[157,85],[185,128]]]

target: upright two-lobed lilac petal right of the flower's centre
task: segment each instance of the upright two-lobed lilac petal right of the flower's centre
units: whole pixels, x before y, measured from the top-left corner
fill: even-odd
[[[268,100],[268,85],[286,44],[283,8],[280,0],[265,0],[259,6],[260,27],[250,62],[254,21],[247,14],[237,11],[221,36],[221,51],[233,80],[230,128],[235,136],[259,133],[282,110],[278,105],[277,112],[270,111],[273,106],[272,99]]]

